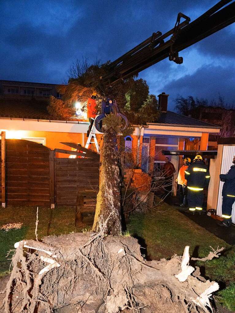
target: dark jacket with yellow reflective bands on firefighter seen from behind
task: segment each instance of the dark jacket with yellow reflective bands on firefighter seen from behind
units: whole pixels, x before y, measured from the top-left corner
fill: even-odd
[[[185,178],[189,189],[199,191],[208,187],[211,176],[204,162],[197,160],[187,168]]]

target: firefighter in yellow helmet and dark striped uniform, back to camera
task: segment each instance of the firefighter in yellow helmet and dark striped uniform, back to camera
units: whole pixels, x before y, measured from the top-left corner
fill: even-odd
[[[207,188],[210,182],[210,173],[204,164],[201,155],[196,155],[194,161],[185,171],[188,189],[188,206],[192,214],[203,211],[204,188]]]

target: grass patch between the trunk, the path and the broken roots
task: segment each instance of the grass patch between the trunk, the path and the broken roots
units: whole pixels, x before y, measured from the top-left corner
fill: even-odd
[[[161,209],[164,210],[164,207]],[[210,246],[230,247],[174,208],[153,215],[135,215],[128,229],[133,237],[145,240],[141,244],[146,246],[149,259],[169,259],[174,254],[182,255],[186,245],[190,246],[191,256],[199,258],[211,251]]]

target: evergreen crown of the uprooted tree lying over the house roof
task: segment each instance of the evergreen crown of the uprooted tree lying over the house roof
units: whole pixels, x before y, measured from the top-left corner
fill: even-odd
[[[148,115],[151,116],[151,121],[154,121],[154,116],[158,116],[155,106],[145,104],[145,101],[149,101],[147,100],[149,99],[149,86],[146,80],[132,77],[119,82],[112,90],[107,90],[107,85],[102,81],[102,76],[108,73],[109,64],[110,61],[104,64],[96,61],[90,65],[87,59],[73,62],[68,72],[70,77],[68,84],[58,87],[58,91],[63,95],[62,100],[51,97],[47,107],[49,113],[61,117],[74,115],[75,110],[73,108],[76,101],[81,102],[82,110],[86,111],[87,99],[91,97],[93,92],[96,92],[98,107],[101,106],[102,100],[108,93],[117,101],[120,111],[126,114],[133,123],[150,121],[146,119],[147,110],[152,108],[154,112],[149,112]],[[153,99],[153,101],[155,100]]]

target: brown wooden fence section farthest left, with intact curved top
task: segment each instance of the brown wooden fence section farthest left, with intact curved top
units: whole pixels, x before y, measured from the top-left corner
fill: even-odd
[[[2,142],[1,146],[3,146]],[[4,158],[4,153],[1,155]],[[6,139],[5,187],[1,188],[2,203],[49,206],[49,156],[50,149],[39,143],[22,139]],[[1,176],[3,185],[2,172]]]

